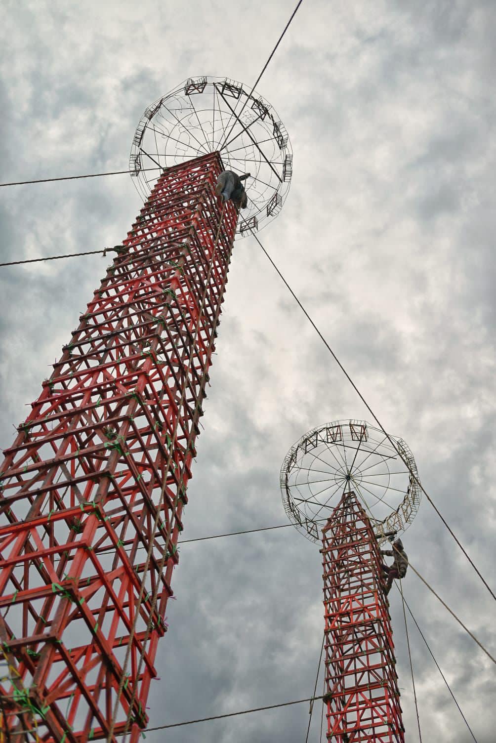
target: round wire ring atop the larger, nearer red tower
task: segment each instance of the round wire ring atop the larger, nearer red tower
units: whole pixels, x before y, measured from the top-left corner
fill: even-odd
[[[148,198],[164,168],[220,152],[223,166],[244,182],[248,206],[240,235],[265,227],[290,189],[293,151],[270,103],[227,77],[190,77],[146,108],[134,134],[129,170]]]

